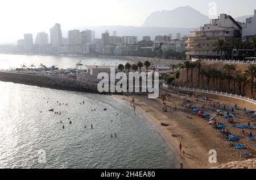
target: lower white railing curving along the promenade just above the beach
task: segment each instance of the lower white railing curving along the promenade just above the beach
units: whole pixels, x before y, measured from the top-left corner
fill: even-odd
[[[254,99],[250,99],[250,98],[246,98],[243,97],[242,95],[235,95],[232,93],[222,93],[222,92],[218,92],[218,91],[212,91],[212,90],[204,90],[204,89],[195,89],[195,88],[191,88],[191,87],[175,87],[175,86],[171,86],[174,89],[179,89],[179,90],[184,90],[184,91],[192,91],[192,92],[199,92],[199,93],[206,93],[206,94],[213,94],[213,95],[221,95],[224,97],[230,97],[230,98],[236,98],[236,99],[240,99],[243,101],[247,101],[253,104],[256,104],[256,101]]]

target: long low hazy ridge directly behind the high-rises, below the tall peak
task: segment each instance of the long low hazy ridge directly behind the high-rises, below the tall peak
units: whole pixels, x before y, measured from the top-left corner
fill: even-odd
[[[138,40],[142,40],[143,36],[150,36],[151,40],[155,40],[155,36],[172,34],[176,38],[176,34],[180,32],[181,36],[188,35],[194,28],[175,28],[175,27],[138,27],[138,26],[82,26],[74,27],[72,30],[94,30],[96,38],[101,38],[101,34],[105,30],[109,30],[112,36],[113,31],[117,31],[117,36],[138,36]],[[67,37],[68,30],[63,32],[63,36]]]

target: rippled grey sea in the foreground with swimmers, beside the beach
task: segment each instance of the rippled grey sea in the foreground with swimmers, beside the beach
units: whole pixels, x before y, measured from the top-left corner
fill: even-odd
[[[112,97],[9,82],[0,82],[0,94],[0,168],[177,168],[179,164],[158,131]]]

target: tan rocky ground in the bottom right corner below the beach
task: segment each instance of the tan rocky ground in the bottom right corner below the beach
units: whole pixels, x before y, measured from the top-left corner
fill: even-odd
[[[256,169],[256,159],[229,162],[213,169]]]

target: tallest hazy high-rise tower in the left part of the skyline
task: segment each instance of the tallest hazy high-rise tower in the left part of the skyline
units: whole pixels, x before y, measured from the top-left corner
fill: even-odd
[[[50,41],[53,47],[60,47],[63,44],[60,24],[55,24],[50,29]]]

